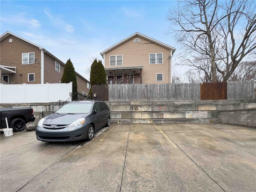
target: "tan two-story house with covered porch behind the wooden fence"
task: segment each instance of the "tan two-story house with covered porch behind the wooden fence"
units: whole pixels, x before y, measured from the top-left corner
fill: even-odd
[[[101,52],[108,84],[172,83],[175,48],[138,32]]]

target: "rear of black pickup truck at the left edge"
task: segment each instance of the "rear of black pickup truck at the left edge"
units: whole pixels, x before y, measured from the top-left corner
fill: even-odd
[[[28,108],[2,108],[1,114],[1,129],[6,128],[6,120],[8,121],[9,128],[12,128],[13,132],[24,130],[28,122],[35,120],[34,111],[31,107]]]

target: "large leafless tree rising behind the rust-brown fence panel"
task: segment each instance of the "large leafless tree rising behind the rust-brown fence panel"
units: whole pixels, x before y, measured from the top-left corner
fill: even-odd
[[[227,81],[243,58],[255,52],[255,7],[250,0],[179,1],[167,19],[169,32],[184,48],[182,62],[202,70],[206,80]]]

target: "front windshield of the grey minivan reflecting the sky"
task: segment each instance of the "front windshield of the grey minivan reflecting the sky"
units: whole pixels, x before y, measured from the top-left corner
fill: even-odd
[[[67,103],[61,108],[59,108],[56,113],[64,113],[64,114],[76,114],[76,113],[90,113],[92,108],[92,103],[82,103],[82,102],[75,102],[75,103]]]

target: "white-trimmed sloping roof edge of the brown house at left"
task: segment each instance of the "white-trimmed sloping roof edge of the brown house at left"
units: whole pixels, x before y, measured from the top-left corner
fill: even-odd
[[[44,49],[43,47],[41,47],[41,46],[39,46],[39,45],[37,45],[37,44],[34,44],[34,43],[32,43],[32,42],[30,42],[30,41],[28,41],[28,40],[26,40],[26,39],[24,39],[24,38],[22,38],[22,37],[20,37],[20,36],[18,36],[18,35],[16,35],[16,34],[14,34],[14,33],[12,33],[12,32],[7,31],[7,32],[5,32],[4,34],[2,34],[2,35],[0,36],[0,41],[4,40],[5,38],[7,38],[7,37],[10,36],[10,35],[13,35],[13,36],[15,36],[15,37],[17,37],[17,38],[19,38],[19,39],[21,39],[21,40],[24,40],[25,42],[28,42],[28,43],[30,43],[30,44],[32,44],[32,45],[38,47],[40,50],[43,50],[44,53],[48,54],[49,56],[51,56],[52,58],[54,58],[55,60],[57,60],[58,62],[60,62],[60,64],[62,64],[63,66],[65,65],[64,62],[62,62],[60,59],[58,59],[56,56],[54,56],[53,54],[51,54],[50,52],[48,52],[48,51],[47,51],[46,49]],[[87,82],[90,83],[90,81],[88,81],[86,78],[84,78],[82,75],[80,75],[80,74],[77,73],[76,71],[75,71],[75,73],[76,73],[78,76],[80,76],[82,79],[84,79],[84,80],[86,80]]]

